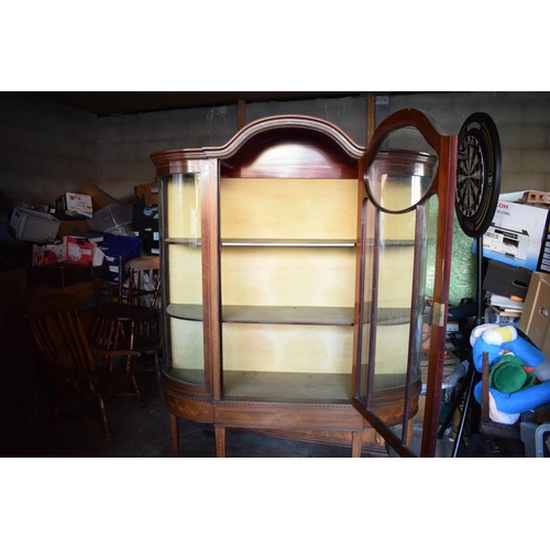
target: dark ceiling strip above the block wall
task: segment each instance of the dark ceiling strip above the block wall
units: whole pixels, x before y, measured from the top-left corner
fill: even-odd
[[[35,91],[33,94],[98,117],[218,107],[237,103],[239,100],[289,101],[364,95],[360,91]]]

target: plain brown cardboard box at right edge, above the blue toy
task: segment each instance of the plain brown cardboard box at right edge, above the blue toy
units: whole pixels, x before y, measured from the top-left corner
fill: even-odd
[[[524,311],[519,320],[532,343],[550,358],[550,274],[535,272],[531,275]]]

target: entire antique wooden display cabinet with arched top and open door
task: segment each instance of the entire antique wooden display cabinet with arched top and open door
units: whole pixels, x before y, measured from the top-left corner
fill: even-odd
[[[427,319],[422,454],[433,454],[455,148],[406,110],[369,148],[292,116],[220,147],[152,155],[175,455],[178,417],[213,425],[218,457],[227,429],[413,454]]]

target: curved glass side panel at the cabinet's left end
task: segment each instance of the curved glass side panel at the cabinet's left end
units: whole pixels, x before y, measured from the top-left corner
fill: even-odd
[[[167,342],[169,374],[183,382],[204,384],[200,175],[174,174],[163,179],[168,284],[166,310],[170,327]]]

